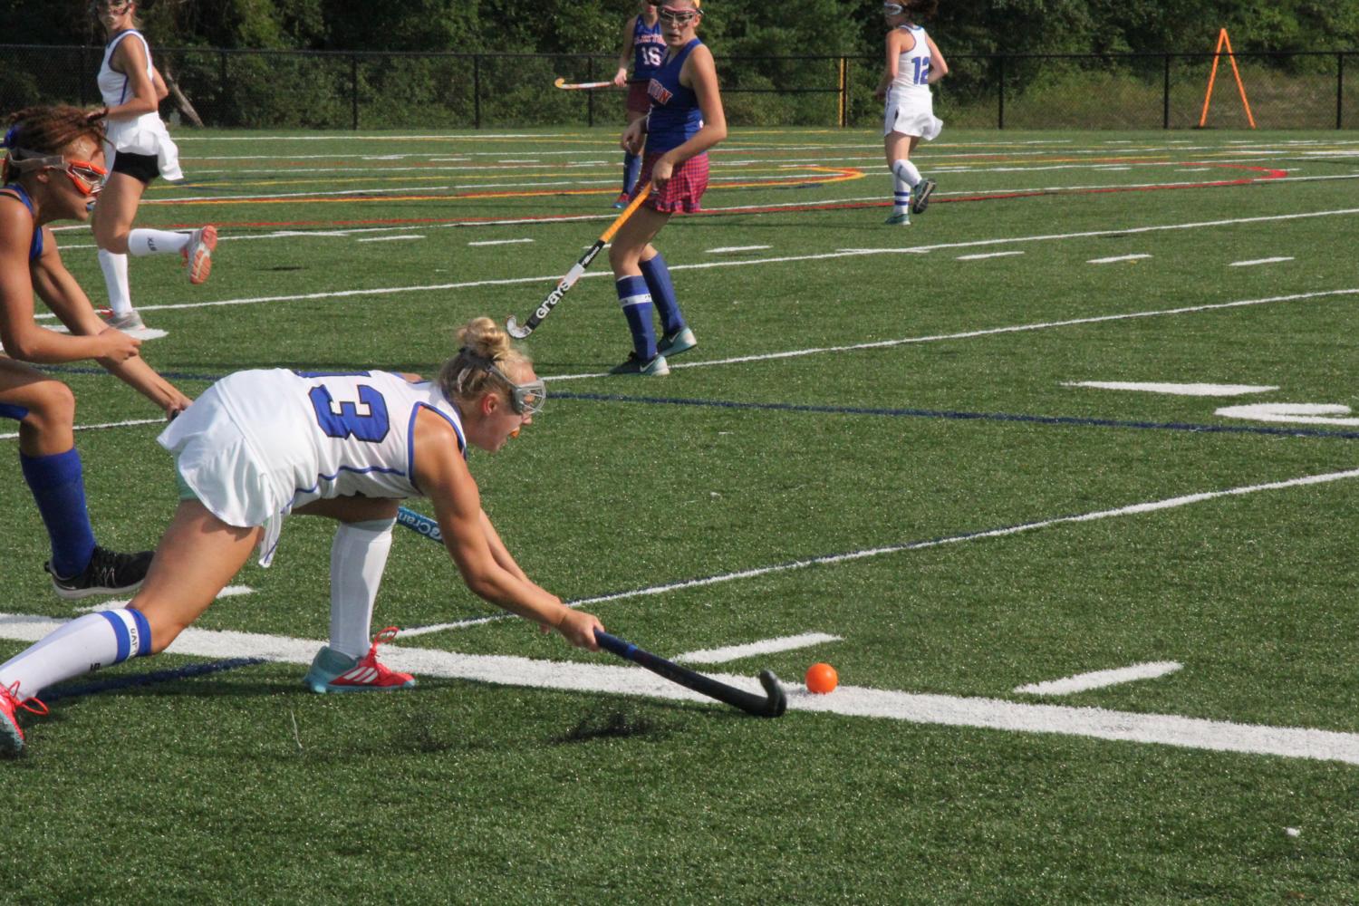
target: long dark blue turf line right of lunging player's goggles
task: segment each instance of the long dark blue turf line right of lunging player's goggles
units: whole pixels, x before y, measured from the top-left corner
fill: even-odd
[[[587,399],[594,402],[635,402],[652,406],[707,406],[711,409],[754,409],[768,412],[806,412],[832,416],[881,416],[887,418],[946,418],[955,421],[1017,421],[1034,425],[1061,425],[1080,428],[1133,428],[1140,431],[1185,431],[1192,433],[1269,435],[1279,437],[1339,437],[1359,440],[1359,431],[1326,431],[1322,428],[1267,428],[1260,425],[1199,425],[1185,421],[1120,421],[1117,418],[1086,418],[1076,416],[1025,416],[1006,412],[957,412],[947,409],[875,409],[868,406],[815,406],[792,402],[735,402],[730,399],[690,399],[684,397],[624,397],[621,394],[590,394],[553,391],[552,399]]]

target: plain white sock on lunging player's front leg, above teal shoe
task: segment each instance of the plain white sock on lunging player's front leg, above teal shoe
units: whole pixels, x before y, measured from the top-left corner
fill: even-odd
[[[351,657],[368,653],[372,604],[391,551],[395,519],[340,523],[330,543],[330,648]]]

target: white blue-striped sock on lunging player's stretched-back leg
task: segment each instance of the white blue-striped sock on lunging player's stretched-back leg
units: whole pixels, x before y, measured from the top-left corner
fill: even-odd
[[[0,664],[0,686],[19,698],[53,683],[151,653],[151,626],[130,607],[77,617]]]

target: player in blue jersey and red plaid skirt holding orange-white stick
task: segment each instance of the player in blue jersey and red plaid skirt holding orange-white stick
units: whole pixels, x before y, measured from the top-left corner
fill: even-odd
[[[670,215],[700,211],[708,187],[708,149],[727,137],[712,52],[696,37],[701,18],[700,0],[667,0],[660,7],[666,56],[647,84],[651,110],[622,133],[625,151],[644,149],[637,185],[650,182],[651,196],[609,247],[618,302],[632,331],[632,352],[612,371],[616,375],[667,375],[666,356],[699,344],[680,312],[665,258],[651,240]],[[660,315],[659,341],[652,311]]]

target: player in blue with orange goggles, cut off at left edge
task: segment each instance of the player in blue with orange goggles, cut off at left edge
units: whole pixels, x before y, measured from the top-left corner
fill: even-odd
[[[109,327],[67,270],[48,227],[88,220],[105,175],[103,128],[76,107],[29,107],[4,136],[0,187],[0,418],[19,422],[19,465],[48,528],[56,592],[71,600],[132,592],[151,551],[120,554],[95,543],[86,509],[84,477],[75,447],[75,395],[50,374],[23,360],[53,365],[94,359],[154,401],[167,416],[188,397],[137,355],[139,340]],[[33,296],[69,333],[34,321]]]

